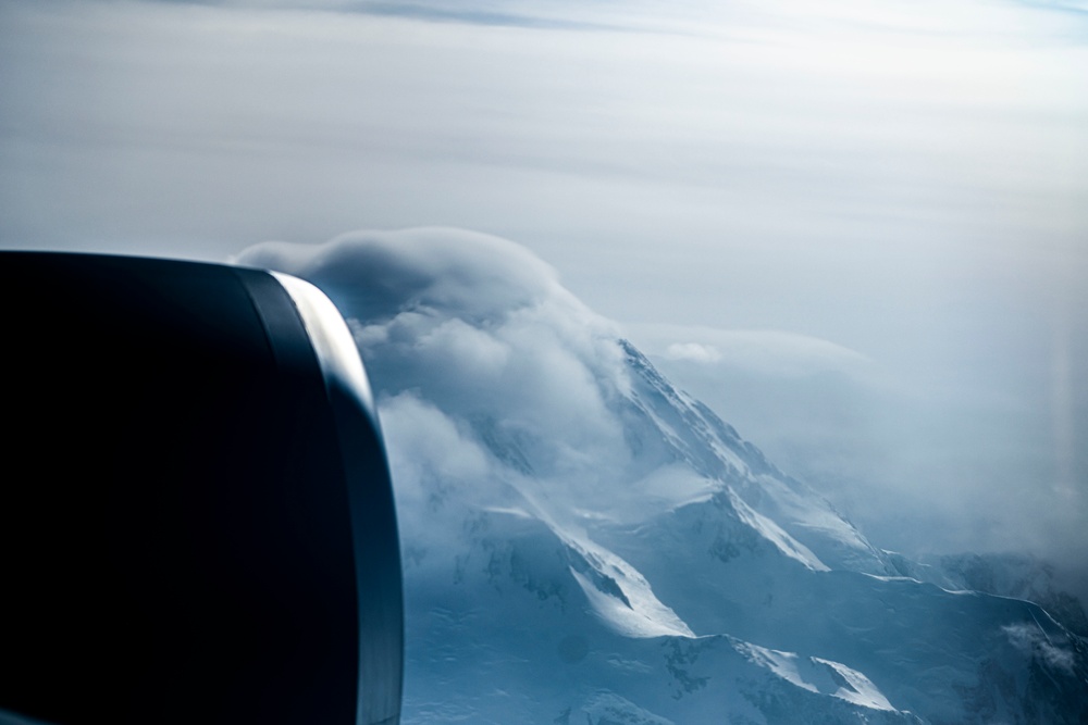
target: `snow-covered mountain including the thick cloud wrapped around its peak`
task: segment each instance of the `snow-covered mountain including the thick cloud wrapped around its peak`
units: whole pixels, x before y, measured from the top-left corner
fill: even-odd
[[[239,261],[323,288],[368,365],[406,723],[1088,721],[1084,639],[870,543],[524,249],[416,229]]]

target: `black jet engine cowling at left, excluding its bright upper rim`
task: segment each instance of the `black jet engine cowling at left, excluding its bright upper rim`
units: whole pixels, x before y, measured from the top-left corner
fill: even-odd
[[[0,709],[397,722],[380,433],[279,283],[16,252],[0,305]]]

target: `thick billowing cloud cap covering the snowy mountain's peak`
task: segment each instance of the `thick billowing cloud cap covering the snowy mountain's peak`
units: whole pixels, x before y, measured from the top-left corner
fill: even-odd
[[[458,442],[568,490],[602,476],[602,461],[630,457],[608,408],[626,379],[616,327],[522,247],[421,228],[262,243],[237,261],[304,277],[333,299],[383,420],[410,434],[390,436],[409,480],[426,461],[442,461],[434,447]]]

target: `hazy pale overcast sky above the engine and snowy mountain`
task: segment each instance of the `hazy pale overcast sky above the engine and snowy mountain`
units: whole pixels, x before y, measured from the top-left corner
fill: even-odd
[[[1088,4],[0,0],[3,246],[423,225],[875,542],[1085,559]]]

